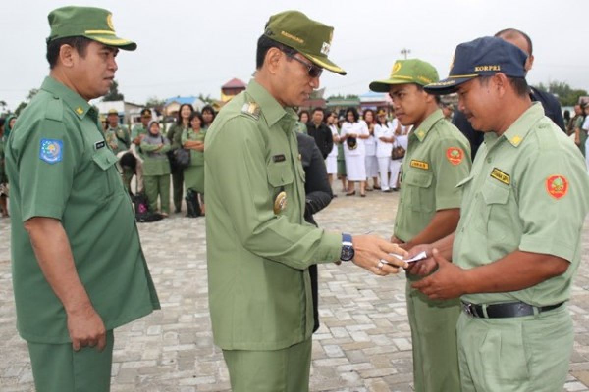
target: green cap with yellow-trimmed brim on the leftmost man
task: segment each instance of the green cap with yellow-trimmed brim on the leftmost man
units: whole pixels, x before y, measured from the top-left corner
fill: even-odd
[[[47,43],[54,39],[82,36],[125,51],[137,49],[137,43],[117,36],[112,26],[112,14],[107,9],[66,6],[49,12],[47,19],[51,28]]]

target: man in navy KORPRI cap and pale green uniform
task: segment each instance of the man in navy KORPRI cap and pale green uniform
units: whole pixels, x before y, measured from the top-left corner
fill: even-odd
[[[458,45],[448,79],[425,87],[457,92],[459,109],[485,132],[458,185],[455,233],[425,247],[419,262],[438,271],[413,283],[430,299],[462,300],[466,392],[560,391],[573,350],[565,301],[581,258],[589,176],[572,140],[532,104],[526,59],[501,38],[475,39]]]

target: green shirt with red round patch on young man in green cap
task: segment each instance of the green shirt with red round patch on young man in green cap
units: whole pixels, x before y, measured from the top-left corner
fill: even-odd
[[[408,242],[429,225],[436,211],[459,208],[471,149],[462,133],[436,110],[409,134],[403,160],[395,236]]]

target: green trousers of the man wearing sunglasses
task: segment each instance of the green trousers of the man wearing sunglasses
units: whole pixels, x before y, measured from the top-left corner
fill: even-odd
[[[223,350],[233,392],[308,392],[311,338],[282,350]]]

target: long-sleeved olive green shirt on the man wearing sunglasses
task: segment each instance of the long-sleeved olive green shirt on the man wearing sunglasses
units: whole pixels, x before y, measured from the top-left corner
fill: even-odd
[[[340,257],[341,235],[303,218],[296,120],[252,80],[207,130],[209,305],[214,341],[224,350],[276,350],[308,339],[308,267]]]

